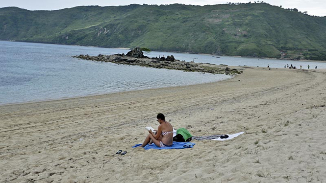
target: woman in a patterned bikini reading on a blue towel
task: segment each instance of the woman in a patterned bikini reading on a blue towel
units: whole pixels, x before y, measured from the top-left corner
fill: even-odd
[[[151,130],[146,137],[141,147],[145,147],[148,143],[154,143],[158,147],[170,147],[173,144],[173,127],[171,123],[165,120],[165,116],[162,113],[157,114],[157,122],[160,123],[156,134]]]

